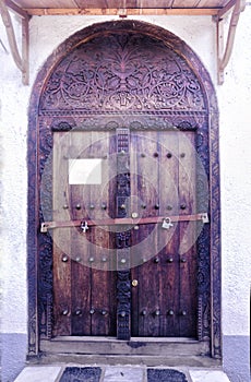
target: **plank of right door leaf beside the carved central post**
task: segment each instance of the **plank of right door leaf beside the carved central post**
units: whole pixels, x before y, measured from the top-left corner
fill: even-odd
[[[157,132],[132,132],[131,160],[135,168],[131,192],[140,216],[158,216],[158,140]],[[133,210],[134,211],[134,210]],[[132,270],[132,278],[139,284],[133,288],[133,335],[159,335],[159,271],[157,263],[157,232],[156,225],[148,224],[132,229],[132,258],[140,265]],[[155,232],[152,235],[153,230]],[[154,258],[156,255],[156,259]],[[155,260],[154,260],[155,259]]]

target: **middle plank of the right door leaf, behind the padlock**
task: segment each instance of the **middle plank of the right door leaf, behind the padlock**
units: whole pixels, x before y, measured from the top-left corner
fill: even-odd
[[[178,211],[178,133],[177,131],[160,132],[159,159],[159,198],[160,215],[179,215]],[[171,218],[172,227],[159,227],[158,240],[162,252],[162,325],[164,336],[179,336],[179,231],[178,224]]]

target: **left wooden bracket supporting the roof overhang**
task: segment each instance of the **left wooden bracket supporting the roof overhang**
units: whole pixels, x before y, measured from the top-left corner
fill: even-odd
[[[11,9],[14,13],[22,17],[22,53],[20,55],[16,37],[12,24],[12,20],[9,13]],[[7,29],[7,36],[11,49],[11,55],[16,67],[22,72],[22,80],[24,85],[28,85],[28,14],[20,9],[12,1],[0,0],[0,12],[2,16],[3,24]]]

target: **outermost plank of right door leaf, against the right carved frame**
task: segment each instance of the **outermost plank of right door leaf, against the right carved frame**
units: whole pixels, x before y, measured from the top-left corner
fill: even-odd
[[[196,212],[194,133],[179,133],[179,207],[180,215]],[[196,336],[196,226],[179,223],[180,336]]]

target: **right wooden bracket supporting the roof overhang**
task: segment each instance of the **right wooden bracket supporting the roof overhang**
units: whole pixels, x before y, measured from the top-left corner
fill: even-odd
[[[240,13],[246,8],[246,1],[244,0],[231,0],[228,2],[228,4],[223,8],[220,11],[218,11],[218,14],[216,16],[213,16],[217,24],[217,70],[218,70],[218,85],[222,85],[224,83],[224,71],[229,62],[229,59],[231,57],[234,43],[235,43],[235,36],[236,36],[236,29],[239,22]],[[228,27],[228,35],[226,40],[226,46],[224,48],[224,16],[231,11],[231,20]]]

